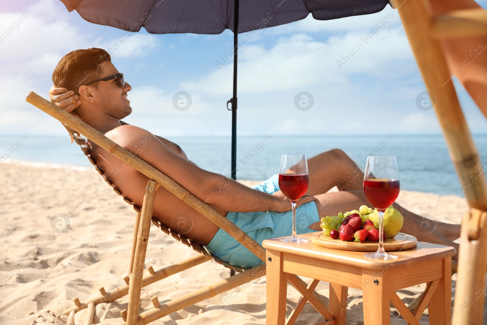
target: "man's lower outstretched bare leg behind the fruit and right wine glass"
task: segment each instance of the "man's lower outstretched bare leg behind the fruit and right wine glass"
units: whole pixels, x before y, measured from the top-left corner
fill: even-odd
[[[369,207],[372,206],[372,204],[365,197],[363,191],[341,191],[318,194],[315,196],[317,198],[315,203],[316,207],[318,208],[318,214],[320,218],[327,215],[337,215],[340,211],[350,211],[356,209],[363,204]],[[440,234],[437,229],[433,229],[431,231],[431,229],[425,229],[424,225],[422,227],[421,223],[424,221],[424,219],[422,219],[421,216],[402,208],[396,203],[394,203],[394,208],[399,210],[404,217],[401,232],[412,234],[419,241],[422,242],[454,247],[458,252],[459,245]],[[319,225],[320,222],[316,222],[310,228],[319,231],[321,230]],[[453,256],[454,260],[456,260],[456,258],[457,255]]]

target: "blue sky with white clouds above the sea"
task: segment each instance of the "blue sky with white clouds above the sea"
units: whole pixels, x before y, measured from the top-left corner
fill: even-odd
[[[161,136],[231,134],[226,101],[233,60],[221,58],[231,52],[231,31],[154,35],[142,29],[122,42],[125,31],[87,22],[58,0],[0,3],[0,34],[24,18],[0,43],[0,135],[65,135],[25,97],[34,91],[48,98],[61,57],[90,47],[109,51],[132,86],[126,122]],[[479,3],[486,7],[487,1]],[[388,22],[365,43],[362,38],[385,17]],[[363,47],[354,50],[359,42]],[[309,15],[259,30],[240,44],[239,135],[441,134],[434,110],[416,104],[426,88],[389,5],[344,19]],[[345,61],[352,50],[358,53]],[[485,117],[453,80],[471,132],[486,134]]]

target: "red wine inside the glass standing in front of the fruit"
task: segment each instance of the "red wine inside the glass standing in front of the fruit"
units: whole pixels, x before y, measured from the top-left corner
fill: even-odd
[[[399,180],[366,179],[364,193],[377,210],[386,210],[399,196]]]

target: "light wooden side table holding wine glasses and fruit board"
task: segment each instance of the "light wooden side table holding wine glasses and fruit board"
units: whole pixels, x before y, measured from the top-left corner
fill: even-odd
[[[308,233],[300,235],[309,237]],[[451,320],[451,256],[450,246],[418,242],[412,249],[396,251],[393,261],[372,260],[363,252],[326,249],[309,243],[283,243],[279,238],[264,240],[267,250],[267,319],[266,325],[292,325],[300,311],[312,299],[319,281],[330,283],[327,310],[312,305],[331,322],[344,325],[348,287],[363,291],[365,325],[389,325],[390,303],[412,325],[419,325],[426,306],[431,325],[447,325]],[[287,275],[296,274],[315,279],[307,288],[300,288],[303,297],[286,320]],[[411,312],[397,296],[396,290],[427,284],[418,306]],[[299,288],[298,288],[299,289]]]

